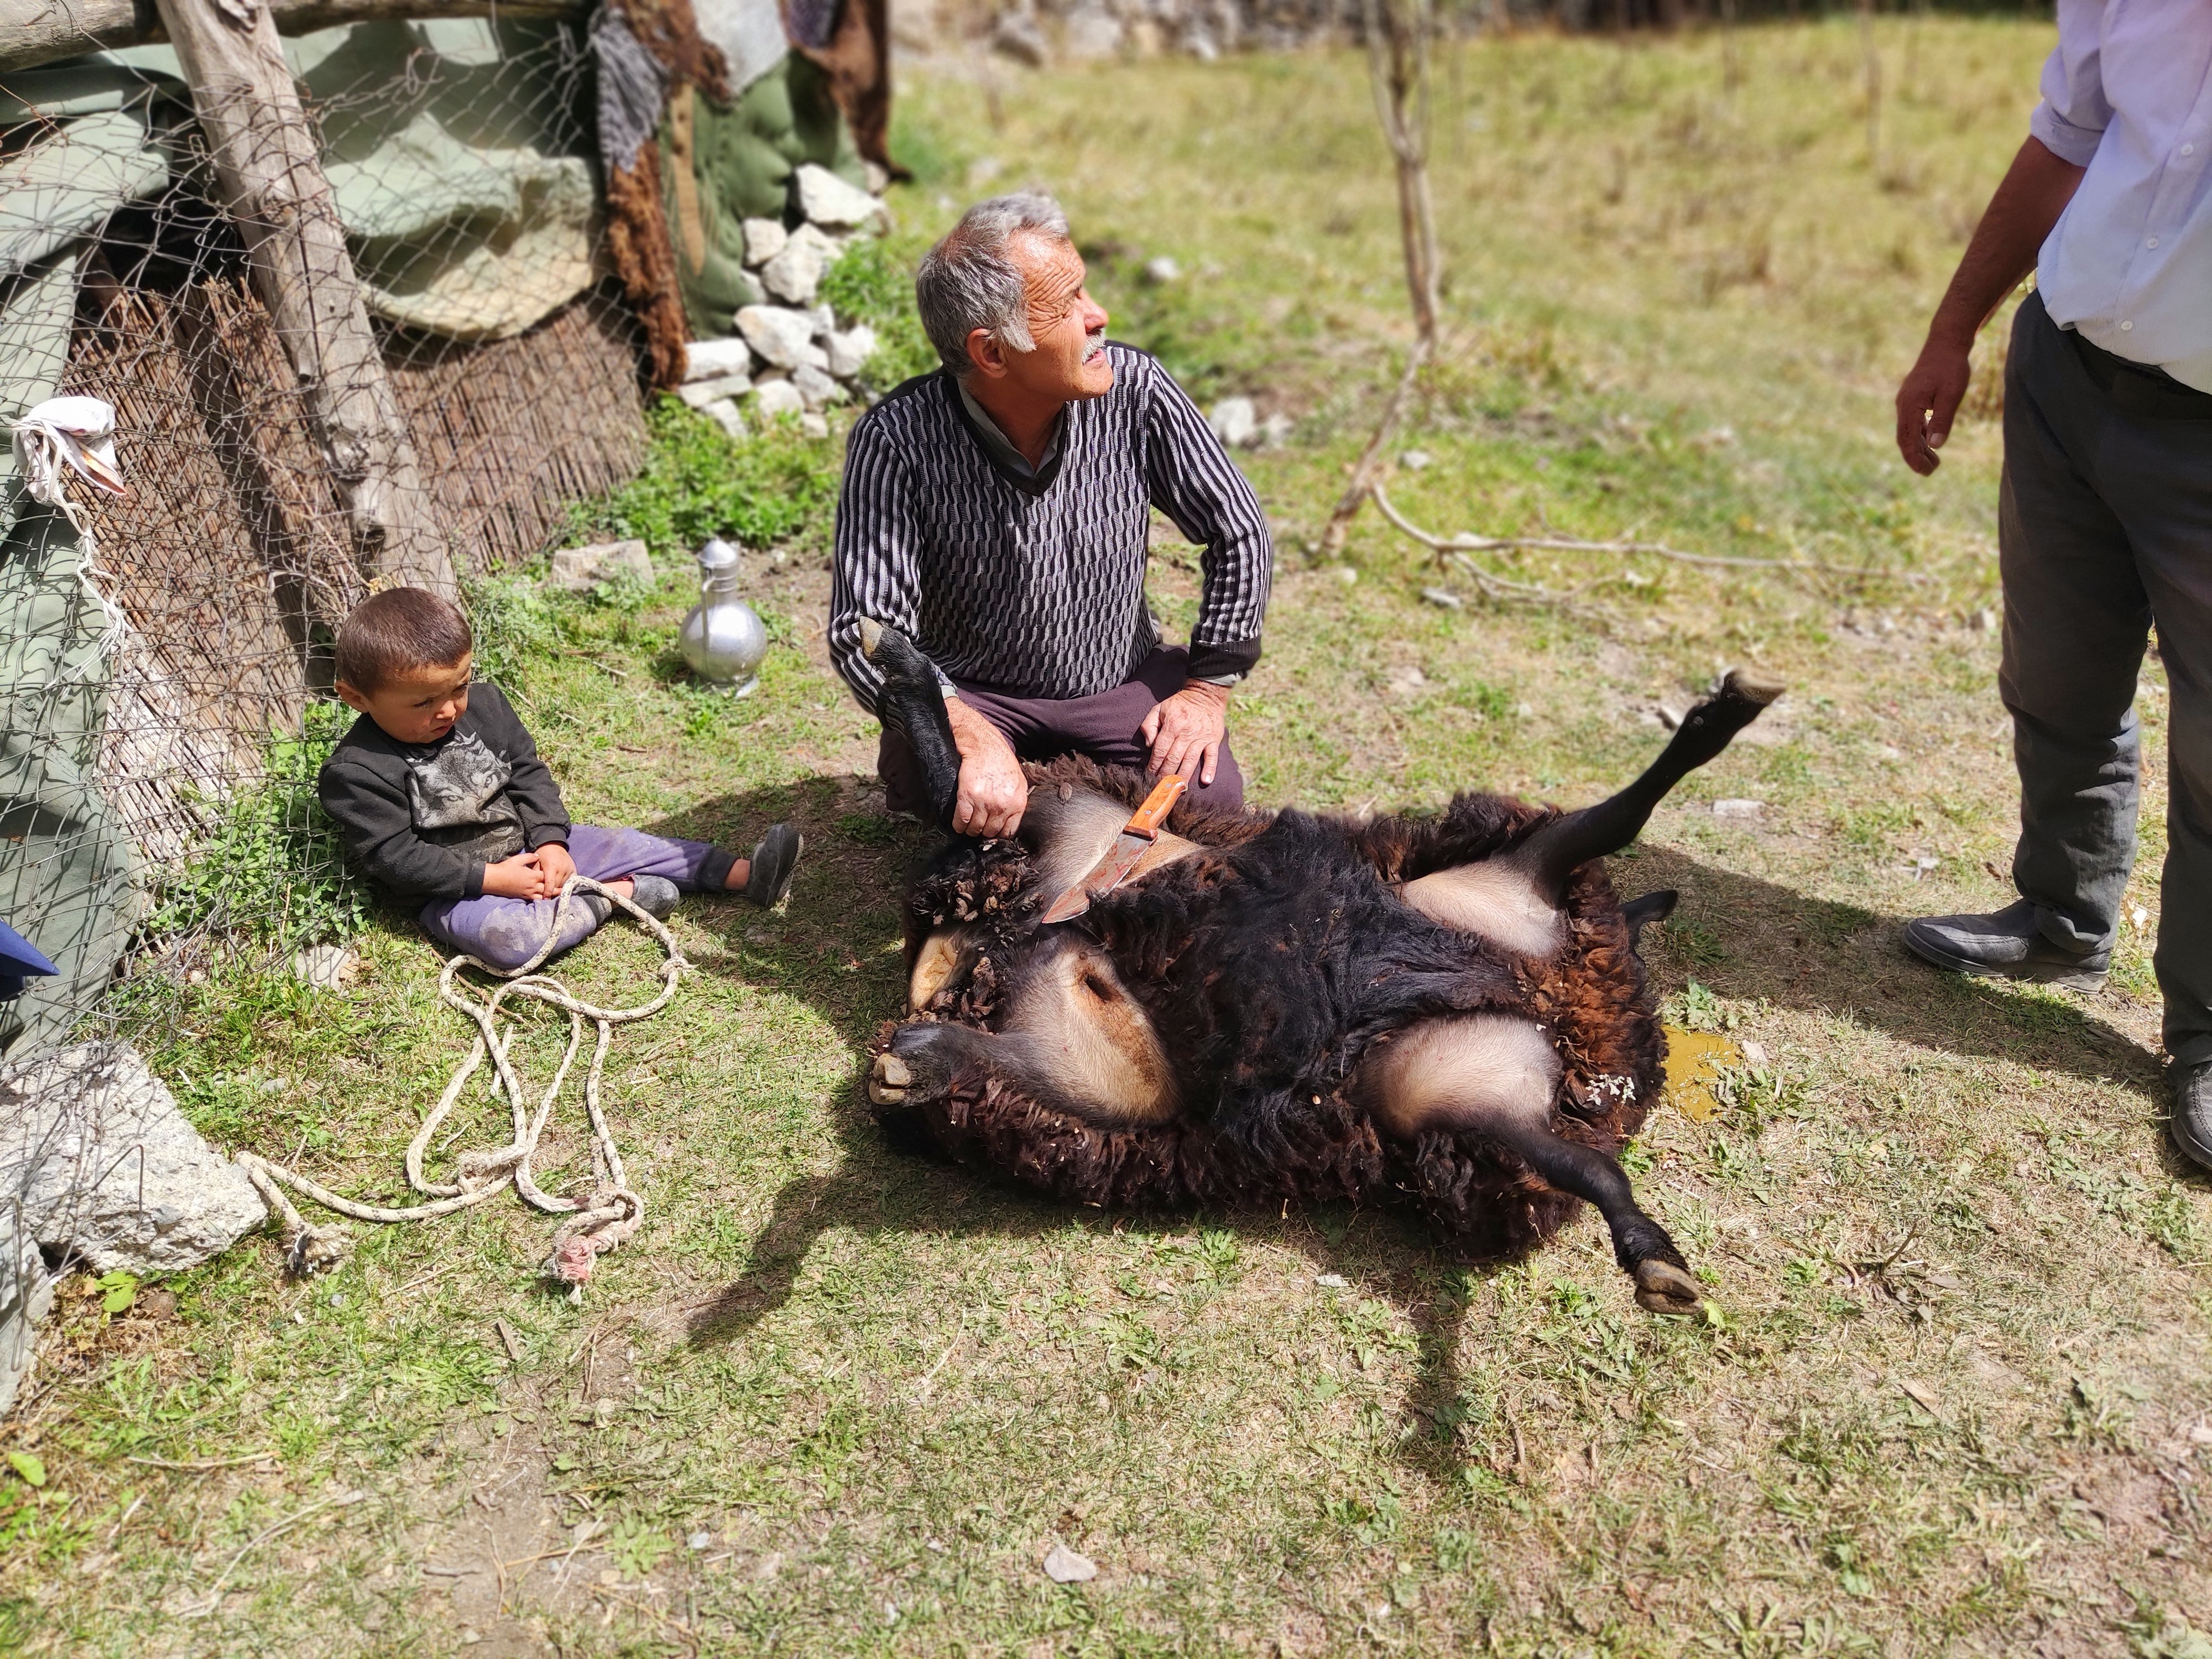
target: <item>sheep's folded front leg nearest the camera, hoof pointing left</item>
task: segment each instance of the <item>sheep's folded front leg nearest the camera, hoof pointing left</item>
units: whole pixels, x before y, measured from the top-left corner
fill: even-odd
[[[1175,1071],[1113,962],[1086,945],[1031,958],[1002,1031],[911,1024],[876,1057],[867,1095],[914,1106],[962,1071],[984,1071],[1042,1106],[1106,1128],[1155,1124],[1179,1104]]]

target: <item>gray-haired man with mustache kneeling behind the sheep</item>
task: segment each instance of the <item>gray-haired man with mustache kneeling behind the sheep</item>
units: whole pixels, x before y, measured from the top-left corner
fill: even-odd
[[[953,827],[1009,836],[1022,761],[1088,754],[1179,772],[1241,805],[1228,699],[1259,661],[1274,549],[1259,498],[1159,363],[1106,341],[1068,221],[1044,195],[969,208],[916,274],[945,367],[852,429],[836,513],[830,655],[876,708],[860,617],[936,664],[960,745]],[[1144,599],[1157,507],[1199,542],[1190,648]],[[894,812],[920,807],[905,743],[878,752]]]

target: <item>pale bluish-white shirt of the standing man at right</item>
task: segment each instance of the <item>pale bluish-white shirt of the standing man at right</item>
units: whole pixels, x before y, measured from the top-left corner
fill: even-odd
[[[2051,321],[2212,392],[2212,4],[2057,0],[2028,131],[2088,168],[2035,263]]]

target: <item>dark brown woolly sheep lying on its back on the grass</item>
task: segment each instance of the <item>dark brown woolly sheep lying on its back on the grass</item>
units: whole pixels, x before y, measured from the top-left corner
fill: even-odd
[[[949,827],[936,675],[896,630],[863,635]],[[1179,805],[1130,878],[1060,925],[1044,911],[1146,781],[1031,765],[1018,838],[956,836],[909,896],[909,1018],[878,1044],[874,1113],[1068,1203],[1402,1197],[1467,1259],[1522,1254],[1588,1201],[1637,1301],[1694,1312],[1617,1161],[1666,1057],[1637,933],[1674,894],[1624,905],[1601,860],[1778,695],[1730,672],[1644,776],[1579,812],[1473,792],[1429,818]]]

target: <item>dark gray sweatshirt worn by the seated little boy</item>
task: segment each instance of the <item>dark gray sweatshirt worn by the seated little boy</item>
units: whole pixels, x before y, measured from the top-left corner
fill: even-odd
[[[484,865],[568,841],[560,785],[489,681],[436,743],[400,743],[363,714],[316,794],[354,863],[409,898],[480,898]]]

